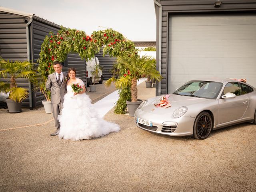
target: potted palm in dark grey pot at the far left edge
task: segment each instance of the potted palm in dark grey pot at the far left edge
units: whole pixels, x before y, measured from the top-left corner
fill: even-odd
[[[0,57],[0,77],[7,79],[6,82],[0,82],[0,90],[10,92],[6,98],[9,113],[21,112],[21,104],[28,97],[28,89],[18,87],[17,78],[27,78],[30,82],[36,82],[36,71],[33,70],[33,64],[28,61],[4,60]]]

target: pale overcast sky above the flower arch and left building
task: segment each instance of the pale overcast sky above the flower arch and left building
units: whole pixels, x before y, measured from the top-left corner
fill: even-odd
[[[64,27],[112,28],[133,41],[156,40],[153,0],[1,0],[0,6],[32,13]]]

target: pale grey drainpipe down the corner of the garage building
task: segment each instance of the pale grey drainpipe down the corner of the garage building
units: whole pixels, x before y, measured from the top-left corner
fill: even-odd
[[[162,64],[162,5],[154,0],[154,4],[159,7],[159,34],[158,34],[158,71],[161,75]],[[161,81],[158,82],[158,96],[161,95]]]

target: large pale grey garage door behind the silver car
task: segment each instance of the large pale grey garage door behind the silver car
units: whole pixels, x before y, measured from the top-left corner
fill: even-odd
[[[246,78],[256,87],[256,15],[169,18],[168,93],[194,78]]]

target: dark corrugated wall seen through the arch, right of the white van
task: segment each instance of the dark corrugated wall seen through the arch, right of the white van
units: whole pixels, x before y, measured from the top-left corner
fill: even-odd
[[[102,75],[104,80],[108,80],[113,76],[111,73],[114,62],[116,62],[115,57],[110,57],[109,54],[103,56],[103,50],[101,49],[98,54],[95,54],[98,58],[100,65],[103,67]]]

